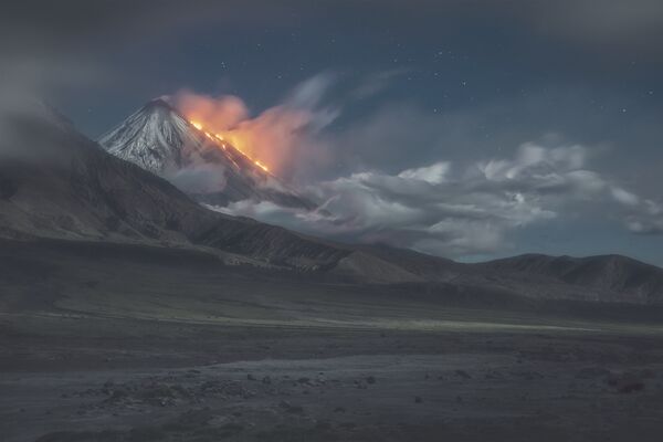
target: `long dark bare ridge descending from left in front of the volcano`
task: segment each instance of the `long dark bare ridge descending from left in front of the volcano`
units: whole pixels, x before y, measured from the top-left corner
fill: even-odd
[[[629,257],[530,254],[465,264],[383,245],[340,244],[208,210],[73,127],[49,122],[15,127],[22,128],[22,144],[14,147],[23,157],[0,161],[0,236],[194,249],[221,263],[309,272],[355,284],[663,303],[663,270]]]

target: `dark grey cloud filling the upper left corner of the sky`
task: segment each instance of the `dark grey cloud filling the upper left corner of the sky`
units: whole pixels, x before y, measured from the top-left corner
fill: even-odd
[[[295,4],[293,4],[294,7]],[[0,6],[0,86],[46,96],[62,90],[135,83],[112,54],[139,51],[201,27],[250,32],[292,23],[293,10],[267,1],[25,0]],[[1,93],[1,91],[0,91]]]

